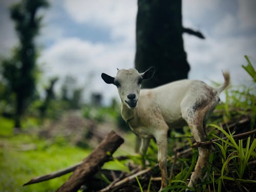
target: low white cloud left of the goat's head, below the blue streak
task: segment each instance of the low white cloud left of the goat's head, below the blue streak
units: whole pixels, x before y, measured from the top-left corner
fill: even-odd
[[[40,63],[47,63],[47,76],[73,75],[87,92],[102,92],[106,98],[116,96],[114,86],[106,85],[101,79],[102,72],[115,76],[116,68],[132,68],[134,52],[118,45],[92,44],[78,38],[62,39],[47,49]],[[90,78],[90,79],[88,79]]]

